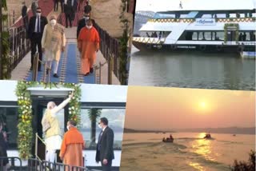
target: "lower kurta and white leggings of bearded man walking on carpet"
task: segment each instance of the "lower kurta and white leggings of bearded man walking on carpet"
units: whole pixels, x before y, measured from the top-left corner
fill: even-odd
[[[46,67],[51,70],[52,62],[54,61],[54,74],[57,74],[58,72],[58,62],[61,58],[61,50],[58,50],[57,52],[53,52],[51,50],[46,50]]]

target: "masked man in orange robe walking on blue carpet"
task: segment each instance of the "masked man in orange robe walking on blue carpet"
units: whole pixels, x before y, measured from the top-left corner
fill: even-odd
[[[93,73],[93,66],[96,62],[96,52],[99,49],[99,35],[94,28],[91,19],[86,21],[86,26],[80,30],[78,36],[78,50],[81,54],[81,73],[88,75]]]

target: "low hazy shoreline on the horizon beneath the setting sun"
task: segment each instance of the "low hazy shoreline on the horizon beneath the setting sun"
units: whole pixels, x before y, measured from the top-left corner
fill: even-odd
[[[138,130],[138,129],[124,129],[123,133],[225,133],[225,134],[246,134],[254,135],[255,127],[250,128],[203,128],[203,129],[177,129],[177,130]]]

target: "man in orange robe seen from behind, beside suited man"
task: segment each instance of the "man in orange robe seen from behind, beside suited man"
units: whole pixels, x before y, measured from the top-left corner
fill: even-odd
[[[85,148],[85,142],[82,133],[75,126],[75,121],[70,120],[67,122],[66,128],[68,131],[64,134],[59,157],[65,165],[84,166],[82,149]]]

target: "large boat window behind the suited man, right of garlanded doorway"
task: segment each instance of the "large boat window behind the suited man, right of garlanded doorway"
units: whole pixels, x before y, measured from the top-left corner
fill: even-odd
[[[94,117],[96,113],[99,114],[99,117]],[[100,117],[106,117],[110,128],[114,130],[114,149],[122,149],[125,113],[126,109],[81,109],[80,131],[86,140],[86,149],[96,149],[98,134],[101,132],[101,129],[98,128]]]

